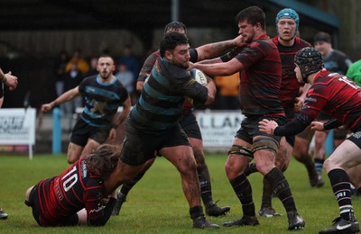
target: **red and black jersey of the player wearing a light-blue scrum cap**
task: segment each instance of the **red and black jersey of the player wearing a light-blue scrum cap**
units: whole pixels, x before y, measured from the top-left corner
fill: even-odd
[[[278,36],[273,38],[274,44],[280,53],[282,63],[282,83],[280,90],[280,98],[282,107],[286,115],[288,112],[294,112],[295,98],[299,96],[301,84],[298,82],[294,73],[294,56],[305,47],[310,47],[310,43],[296,37],[292,46],[283,46]]]

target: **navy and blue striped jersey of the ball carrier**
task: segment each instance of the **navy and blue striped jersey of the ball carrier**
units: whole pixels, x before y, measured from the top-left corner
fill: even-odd
[[[130,121],[139,130],[170,130],[180,121],[184,96],[205,103],[208,89],[196,82],[186,69],[158,58],[130,112]]]

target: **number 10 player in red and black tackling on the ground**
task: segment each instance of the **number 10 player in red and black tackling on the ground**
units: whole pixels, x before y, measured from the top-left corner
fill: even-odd
[[[100,145],[88,157],[81,157],[63,173],[42,180],[26,191],[25,204],[42,227],[104,226],[116,203],[116,191],[106,207],[107,179],[116,169],[120,148]]]

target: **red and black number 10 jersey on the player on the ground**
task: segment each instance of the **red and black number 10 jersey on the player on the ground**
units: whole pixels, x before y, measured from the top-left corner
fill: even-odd
[[[44,226],[57,225],[61,219],[83,208],[87,210],[88,220],[103,217],[103,181],[88,171],[85,158],[80,158],[61,175],[38,184],[38,209]]]

